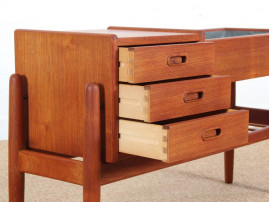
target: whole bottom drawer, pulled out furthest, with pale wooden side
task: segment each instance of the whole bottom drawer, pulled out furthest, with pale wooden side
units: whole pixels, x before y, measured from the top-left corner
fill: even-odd
[[[248,142],[247,110],[165,125],[119,120],[119,151],[172,163],[223,152]]]

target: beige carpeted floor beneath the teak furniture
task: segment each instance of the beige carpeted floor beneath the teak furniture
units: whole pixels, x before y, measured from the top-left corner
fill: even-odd
[[[269,143],[235,150],[234,183],[223,182],[223,154],[102,186],[101,201],[252,201],[269,197]],[[8,201],[7,141],[0,141],[0,202]],[[81,202],[82,187],[26,174],[26,202]]]

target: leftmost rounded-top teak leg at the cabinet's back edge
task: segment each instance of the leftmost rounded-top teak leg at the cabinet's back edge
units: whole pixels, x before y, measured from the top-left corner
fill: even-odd
[[[24,173],[18,169],[18,151],[25,148],[23,81],[18,74],[9,83],[8,177],[9,201],[24,201]]]

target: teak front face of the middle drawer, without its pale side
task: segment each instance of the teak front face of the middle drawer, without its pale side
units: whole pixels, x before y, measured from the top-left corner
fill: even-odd
[[[230,81],[230,76],[217,76],[147,85],[150,89],[148,121],[228,109],[231,99]]]

